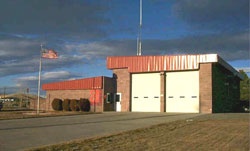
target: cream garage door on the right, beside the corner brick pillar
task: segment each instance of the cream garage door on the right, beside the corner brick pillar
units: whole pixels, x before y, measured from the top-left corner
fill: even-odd
[[[166,112],[199,113],[199,72],[166,73]]]

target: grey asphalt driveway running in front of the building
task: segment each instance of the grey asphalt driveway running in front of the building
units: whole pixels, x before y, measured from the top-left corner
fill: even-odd
[[[24,150],[74,139],[102,136],[201,114],[116,113],[0,121],[0,151]]]

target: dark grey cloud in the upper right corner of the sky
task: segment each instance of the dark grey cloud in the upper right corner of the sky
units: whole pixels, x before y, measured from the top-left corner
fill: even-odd
[[[180,0],[173,11],[192,28],[223,32],[249,28],[249,0]]]

